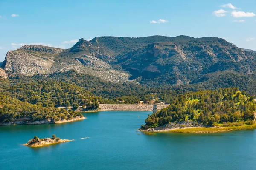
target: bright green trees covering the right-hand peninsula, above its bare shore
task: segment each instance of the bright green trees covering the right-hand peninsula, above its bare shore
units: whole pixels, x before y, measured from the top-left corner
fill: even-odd
[[[246,121],[246,125],[253,125],[255,111],[253,98],[238,88],[198,91],[181,95],[169,107],[148,115],[142,128],[181,121],[194,121],[205,126],[241,121]]]

